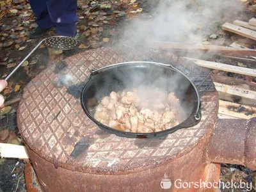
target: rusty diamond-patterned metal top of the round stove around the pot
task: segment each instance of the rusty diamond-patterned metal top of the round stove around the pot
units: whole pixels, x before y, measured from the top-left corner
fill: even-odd
[[[175,66],[201,95],[202,120],[195,127],[150,140],[120,138],[99,129],[81,108],[79,93],[93,68],[124,61],[170,63],[171,54],[99,48],[56,63],[24,88],[17,122],[24,141],[56,166],[80,172],[122,174],[163,165],[188,153],[217,121],[218,94],[207,72],[193,63]]]

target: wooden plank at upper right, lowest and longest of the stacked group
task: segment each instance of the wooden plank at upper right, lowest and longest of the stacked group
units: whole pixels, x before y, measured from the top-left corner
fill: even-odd
[[[246,29],[240,26],[236,26],[229,22],[226,22],[225,24],[223,24],[222,29],[230,31],[232,33],[236,33],[237,35],[245,36],[247,38],[256,40],[256,31],[252,31],[251,29]]]

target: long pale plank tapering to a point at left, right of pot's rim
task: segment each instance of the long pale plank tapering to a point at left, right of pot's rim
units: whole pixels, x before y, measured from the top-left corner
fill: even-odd
[[[236,73],[236,74],[243,74],[246,76],[253,76],[256,77],[256,70],[252,69],[252,68],[246,68],[246,67],[237,67],[234,65],[227,65],[224,63],[216,63],[216,62],[212,62],[212,61],[204,61],[204,60],[196,60],[193,58],[186,58],[187,60],[191,60],[194,61],[196,63],[196,65],[199,65],[201,67],[207,67],[207,68],[214,68],[214,69],[218,69],[218,70],[224,70],[227,72],[232,72],[232,73]]]

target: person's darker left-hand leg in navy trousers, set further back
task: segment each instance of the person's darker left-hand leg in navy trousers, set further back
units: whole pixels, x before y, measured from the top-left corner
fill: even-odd
[[[45,0],[29,0],[29,4],[33,10],[34,15],[36,16],[35,22],[38,27],[49,29],[54,26],[47,11]]]

